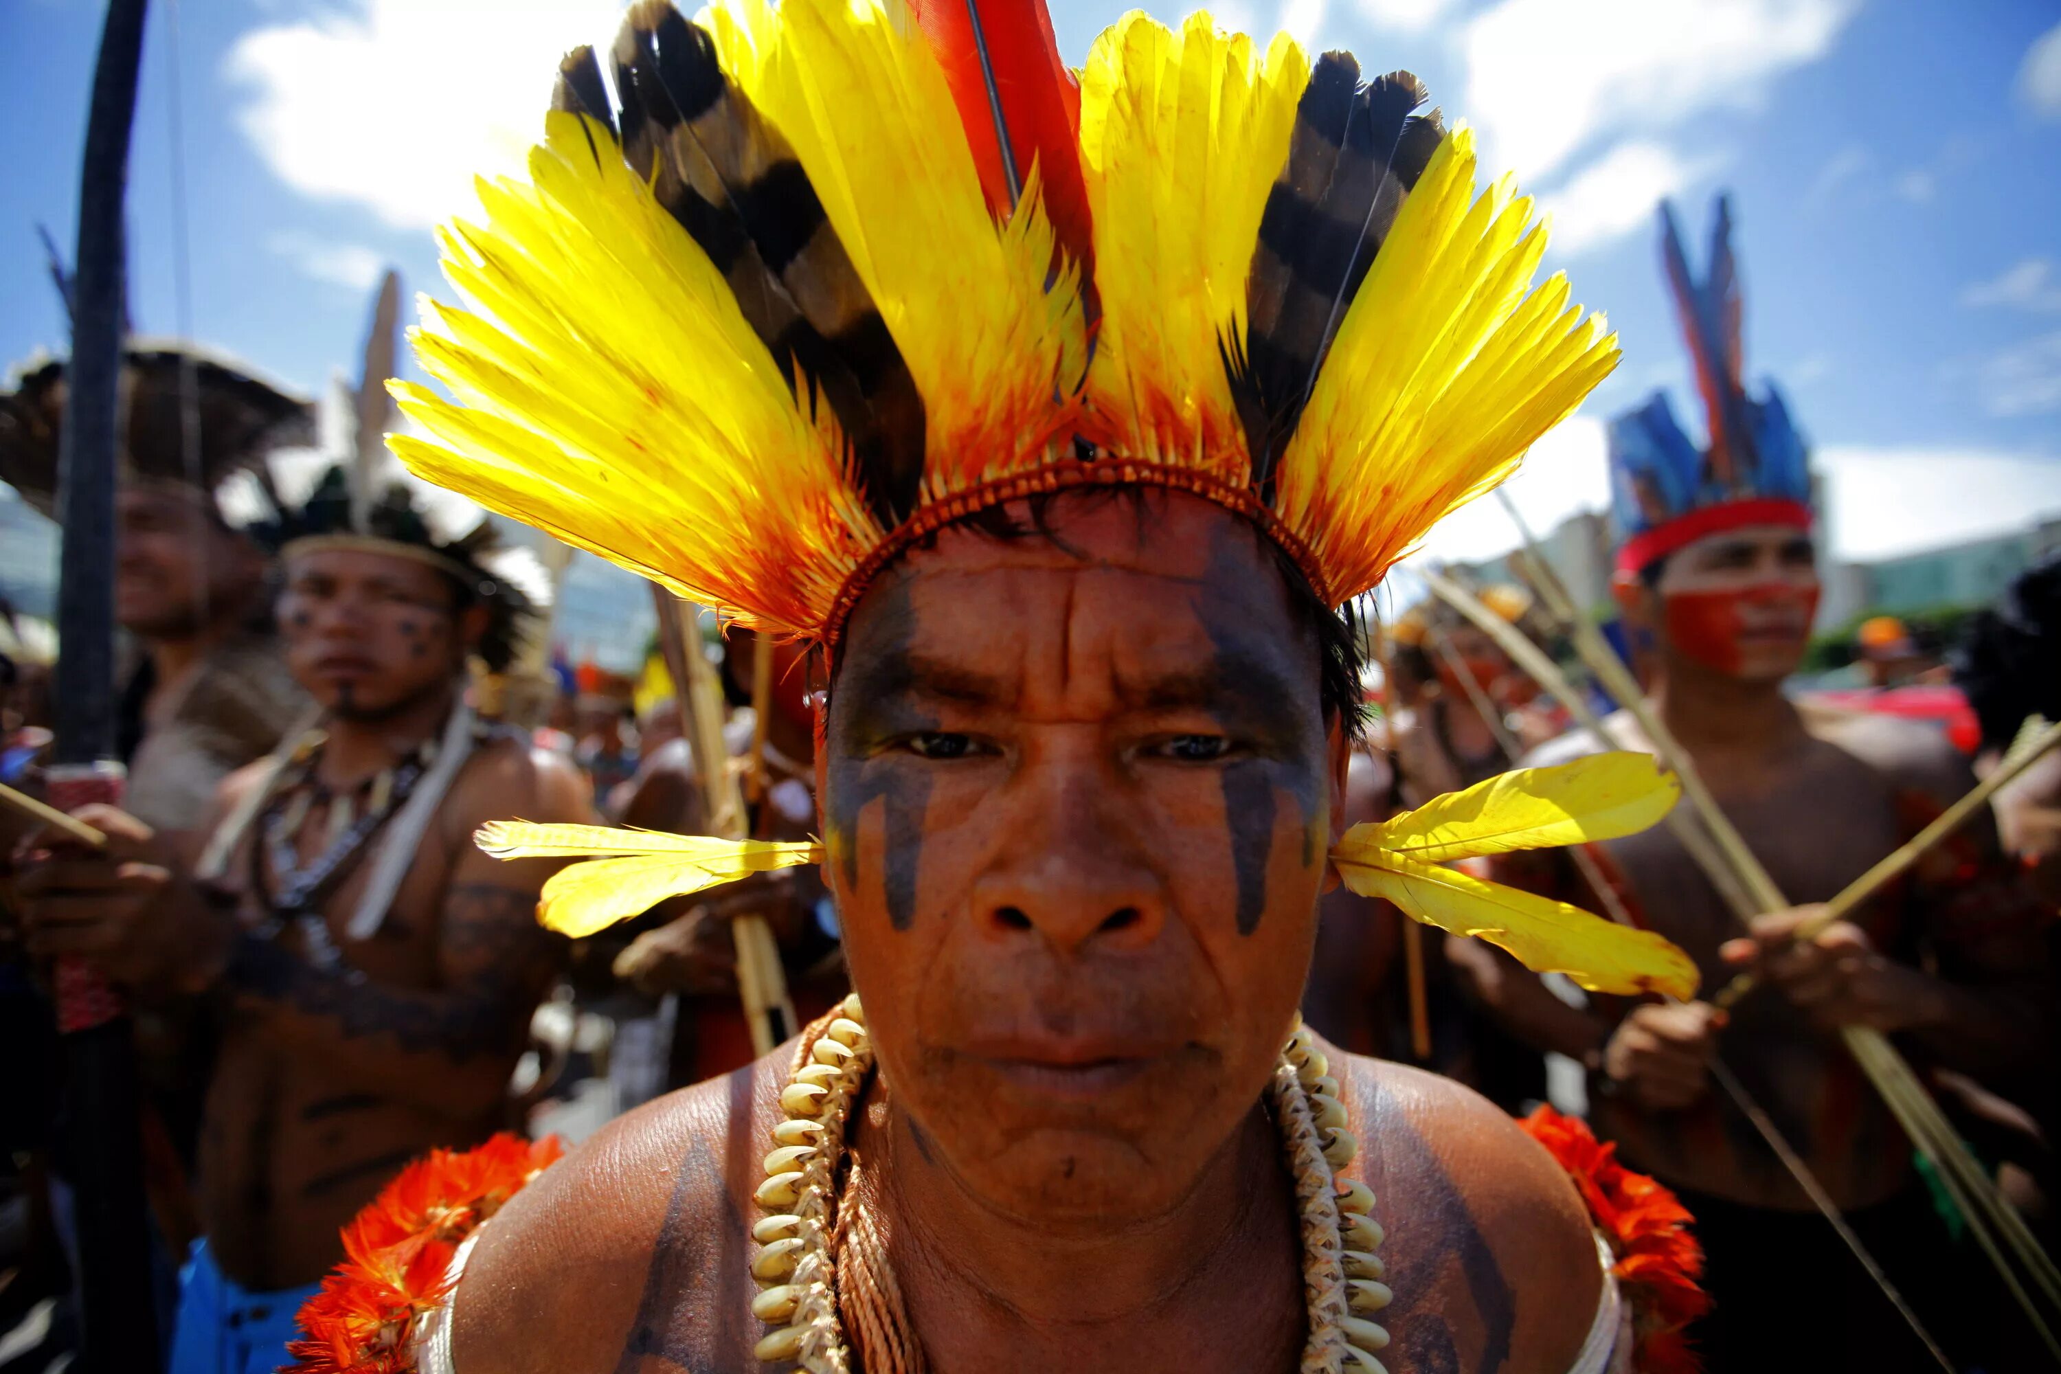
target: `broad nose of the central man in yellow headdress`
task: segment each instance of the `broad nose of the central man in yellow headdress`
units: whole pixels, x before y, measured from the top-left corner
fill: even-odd
[[[1059,954],[1142,950],[1167,925],[1167,888],[1138,812],[1088,748],[1035,750],[1008,789],[1002,847],[973,884],[983,935]]]

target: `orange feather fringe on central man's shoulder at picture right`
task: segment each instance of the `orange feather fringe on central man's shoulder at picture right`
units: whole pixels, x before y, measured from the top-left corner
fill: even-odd
[[[1575,1180],[1595,1226],[1618,1257],[1612,1273],[1632,1306],[1632,1368],[1638,1374],[1696,1374],[1702,1362],[1684,1329],[1711,1310],[1702,1292],[1702,1246],[1688,1207],[1663,1184],[1618,1164],[1618,1147],[1587,1123],[1540,1106],[1519,1121]]]

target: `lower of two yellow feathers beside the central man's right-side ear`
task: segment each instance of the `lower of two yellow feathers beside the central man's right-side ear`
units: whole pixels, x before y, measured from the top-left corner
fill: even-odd
[[[1653,931],[1612,925],[1579,906],[1389,855],[1381,867],[1340,863],[1346,886],[1424,925],[1474,935],[1533,972],[1564,972],[1591,993],[1696,995],[1696,964]]]

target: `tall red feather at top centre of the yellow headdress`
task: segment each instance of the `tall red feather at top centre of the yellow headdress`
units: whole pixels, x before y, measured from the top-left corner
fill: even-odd
[[[1020,181],[1033,163],[1045,187],[1045,214],[1059,247],[1080,264],[1082,282],[1092,280],[1092,239],[1088,233],[1088,187],[1080,179],[1080,82],[1059,60],[1045,0],[909,0],[923,37],[930,39],[944,80],[967,128],[981,190],[995,218],[1010,214],[1010,183],[1002,169],[1002,144],[987,95],[987,74],[973,41],[973,8],[981,14],[981,37],[995,72],[1002,122],[1010,130],[1010,152]]]

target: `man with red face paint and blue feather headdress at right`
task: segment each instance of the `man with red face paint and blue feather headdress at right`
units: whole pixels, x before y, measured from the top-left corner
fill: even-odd
[[[1616,595],[1651,649],[1649,702],[1690,754],[1775,886],[1830,900],[1972,787],[1944,733],[1785,694],[1818,604],[1812,480],[1781,393],[1744,383],[1729,208],[1715,216],[1704,280],[1674,214],[1661,245],[1709,443],[1682,433],[1665,396],[1610,426]],[[1628,713],[1535,752],[1558,762],[1651,750]],[[1523,1036],[1591,1069],[1599,1135],[1682,1193],[1709,1250],[1711,1316],[1694,1329],[1717,1370],[1927,1370],[1933,1358],[1824,1224],[1742,1110],[1713,1092],[1715,1055],[1795,1141],[1855,1234],[1954,1353],[1985,1345],[1985,1308],[1946,1259],[1950,1236],[1888,1106],[1838,1028],[1894,1034],[1927,1063],[2009,1094],[2040,1084],[2047,958],[2040,913],[2001,861],[1987,820],[1919,863],[1915,878],[1812,941],[1791,931],[1820,906],[1735,915],[1667,830],[1597,847],[1634,917],[1676,939],[1704,978],[1739,968],[1770,985],[1721,1011],[1704,1001],[1558,1001],[1480,948],[1455,950],[1480,995]],[[1558,857],[1496,869],[1538,892],[1587,892]],[[1750,911],[1750,908],[1748,908]],[[1797,1320],[1797,1302],[1810,1320]],[[2014,1318],[2016,1320],[2016,1318]]]

